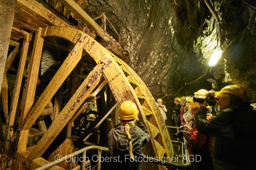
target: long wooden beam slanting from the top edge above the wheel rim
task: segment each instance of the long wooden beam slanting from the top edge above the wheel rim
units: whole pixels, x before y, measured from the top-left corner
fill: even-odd
[[[111,41],[113,47],[111,48],[124,61],[129,62],[127,52],[124,51],[121,44],[119,44],[113,36],[104,31],[78,4],[73,0],[60,0],[70,11],[72,11],[77,18],[81,19],[88,25],[95,33],[97,33],[104,41]]]

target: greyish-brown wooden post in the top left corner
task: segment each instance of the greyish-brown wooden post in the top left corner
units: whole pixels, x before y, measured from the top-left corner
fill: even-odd
[[[16,0],[0,1],[0,88],[4,77]],[[0,91],[1,93],[1,91]]]

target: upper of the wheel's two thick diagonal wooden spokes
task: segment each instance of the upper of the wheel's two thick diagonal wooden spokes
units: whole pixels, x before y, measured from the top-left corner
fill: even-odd
[[[57,31],[57,30],[56,30]],[[69,53],[67,58],[61,64],[59,70],[55,73],[50,83],[45,88],[44,92],[41,94],[39,99],[36,101],[34,107],[29,111],[25,121],[23,122],[22,129],[30,129],[33,123],[36,121],[38,116],[44,110],[44,107],[48,104],[48,102],[52,99],[53,95],[60,88],[62,83],[71,73],[71,71],[75,68],[76,64],[79,62],[82,56],[83,47],[86,43],[88,36],[84,35],[81,39],[76,43],[73,50]]]

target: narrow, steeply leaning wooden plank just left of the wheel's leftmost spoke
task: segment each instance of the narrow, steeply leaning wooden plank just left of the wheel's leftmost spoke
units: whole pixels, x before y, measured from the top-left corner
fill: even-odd
[[[23,41],[18,72],[17,72],[17,76],[16,76],[16,80],[15,80],[13,94],[12,94],[10,113],[8,116],[8,121],[6,123],[5,138],[4,138],[4,152],[5,153],[7,153],[9,150],[10,139],[13,135],[13,123],[14,123],[14,119],[15,119],[15,113],[16,113],[17,104],[18,104],[19,95],[20,95],[20,86],[21,86],[23,72],[24,72],[25,63],[26,63],[27,54],[28,54],[28,46],[29,46],[28,39],[29,39],[29,35],[27,35]]]

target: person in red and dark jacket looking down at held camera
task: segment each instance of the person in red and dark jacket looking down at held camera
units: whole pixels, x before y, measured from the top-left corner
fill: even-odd
[[[198,111],[199,103],[191,101],[189,110],[192,114],[195,115]],[[207,119],[211,117],[208,116]],[[199,162],[193,162],[193,169],[197,170],[211,170],[213,169],[212,165],[212,139],[211,136],[206,136],[201,133],[198,133],[196,125],[193,125],[193,128],[184,125],[188,130],[181,130],[183,136],[187,140],[188,152],[189,155],[200,155],[201,160]]]

